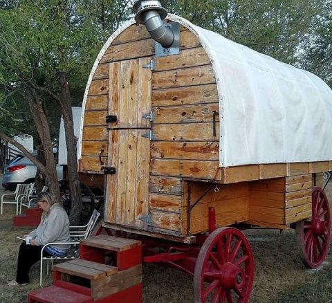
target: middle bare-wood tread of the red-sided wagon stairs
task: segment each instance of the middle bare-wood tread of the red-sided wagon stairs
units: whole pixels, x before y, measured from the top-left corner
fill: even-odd
[[[84,259],[73,259],[68,262],[57,264],[54,266],[54,270],[90,280],[100,279],[108,275],[114,275],[118,272],[118,268],[114,266],[95,263]]]

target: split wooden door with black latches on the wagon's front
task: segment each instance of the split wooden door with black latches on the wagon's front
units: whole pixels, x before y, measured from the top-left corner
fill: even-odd
[[[108,167],[105,221],[146,229],[149,210],[150,58],[109,64]]]

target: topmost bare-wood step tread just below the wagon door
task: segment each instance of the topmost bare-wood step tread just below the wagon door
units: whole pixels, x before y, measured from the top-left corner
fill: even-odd
[[[86,246],[103,248],[113,251],[128,250],[130,248],[141,245],[141,241],[138,240],[112,237],[109,235],[98,235],[95,237],[90,237],[88,239],[83,239],[81,243]]]

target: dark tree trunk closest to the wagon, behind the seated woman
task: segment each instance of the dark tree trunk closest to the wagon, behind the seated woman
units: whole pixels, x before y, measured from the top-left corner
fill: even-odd
[[[77,172],[77,138],[74,134],[73,111],[71,109],[71,93],[67,80],[67,73],[59,73],[59,82],[61,86],[60,108],[62,118],[64,119],[64,131],[66,134],[67,145],[67,171],[69,189],[71,191],[71,212],[69,219],[72,224],[80,221],[82,212],[82,194],[81,185]]]

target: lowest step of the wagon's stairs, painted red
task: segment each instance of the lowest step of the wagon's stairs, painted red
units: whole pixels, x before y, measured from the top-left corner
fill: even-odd
[[[49,286],[28,293],[28,303],[90,303],[93,299],[89,295],[76,293],[66,288]]]

